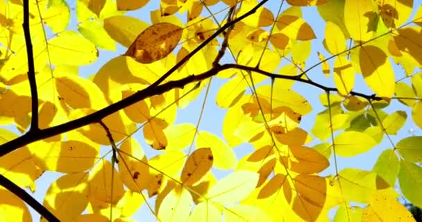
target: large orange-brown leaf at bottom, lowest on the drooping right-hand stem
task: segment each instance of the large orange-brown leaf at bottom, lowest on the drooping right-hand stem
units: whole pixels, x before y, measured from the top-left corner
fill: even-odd
[[[293,210],[305,221],[316,221],[321,214],[327,196],[327,181],[314,175],[299,174],[294,178],[298,193],[294,198]]]

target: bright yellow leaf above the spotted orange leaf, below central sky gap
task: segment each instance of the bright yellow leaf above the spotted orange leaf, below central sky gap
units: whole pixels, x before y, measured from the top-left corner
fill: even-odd
[[[194,142],[196,127],[190,123],[171,125],[164,129],[168,145],[166,151],[180,151]]]

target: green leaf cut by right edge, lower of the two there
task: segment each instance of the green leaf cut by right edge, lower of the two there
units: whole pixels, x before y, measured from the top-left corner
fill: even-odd
[[[398,183],[405,198],[417,207],[422,207],[422,193],[419,191],[419,187],[422,186],[422,168],[412,162],[401,160]]]

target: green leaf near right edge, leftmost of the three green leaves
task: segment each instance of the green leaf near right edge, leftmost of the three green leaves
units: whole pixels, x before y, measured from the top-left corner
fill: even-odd
[[[373,165],[372,171],[377,173],[378,176],[387,182],[390,187],[394,187],[397,180],[398,168],[400,164],[398,162],[398,157],[394,150],[387,149],[382,151],[378,157],[377,162]]]

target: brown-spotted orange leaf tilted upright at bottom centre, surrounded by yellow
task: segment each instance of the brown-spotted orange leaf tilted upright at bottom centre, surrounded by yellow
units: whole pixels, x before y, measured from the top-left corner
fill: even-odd
[[[180,180],[184,185],[194,185],[210,171],[213,159],[210,148],[196,149],[187,157]]]

